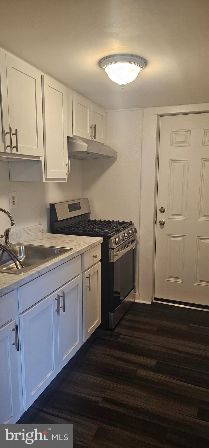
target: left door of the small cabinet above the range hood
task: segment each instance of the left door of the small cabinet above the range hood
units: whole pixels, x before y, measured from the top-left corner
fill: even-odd
[[[90,138],[91,102],[73,94],[73,135]]]

